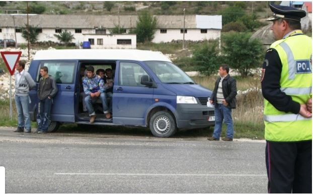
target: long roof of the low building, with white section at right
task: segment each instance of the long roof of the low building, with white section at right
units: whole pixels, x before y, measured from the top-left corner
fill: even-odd
[[[157,21],[157,28],[176,29],[184,27],[184,16],[154,16]],[[137,22],[136,15],[29,15],[29,24],[38,28],[114,28],[120,24],[121,27],[129,29],[135,28]],[[15,21],[13,21],[13,19]],[[1,14],[0,27],[24,27],[27,24],[25,14]],[[222,17],[187,15],[185,19],[186,29],[221,29]]]

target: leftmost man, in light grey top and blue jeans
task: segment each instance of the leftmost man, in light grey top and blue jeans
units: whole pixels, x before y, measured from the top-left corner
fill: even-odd
[[[25,71],[25,60],[20,60],[16,63],[15,73],[15,104],[18,113],[18,128],[14,132],[31,132],[31,123],[29,118],[29,90],[36,86],[31,75]]]

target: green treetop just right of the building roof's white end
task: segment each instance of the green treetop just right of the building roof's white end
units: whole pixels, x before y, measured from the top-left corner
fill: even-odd
[[[238,6],[230,6],[219,12],[222,15],[222,25],[230,22],[236,22],[239,18],[246,15],[245,11]]]

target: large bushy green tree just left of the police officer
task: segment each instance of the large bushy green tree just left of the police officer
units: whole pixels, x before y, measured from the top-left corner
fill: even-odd
[[[248,33],[230,33],[222,37],[225,63],[247,77],[251,68],[260,67],[263,57],[262,43],[250,39]]]

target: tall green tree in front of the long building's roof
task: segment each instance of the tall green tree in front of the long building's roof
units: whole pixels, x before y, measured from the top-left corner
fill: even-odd
[[[142,12],[138,17],[136,29],[137,42],[151,41],[154,38],[156,28],[156,18],[151,16],[148,12]]]

